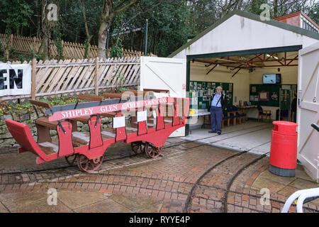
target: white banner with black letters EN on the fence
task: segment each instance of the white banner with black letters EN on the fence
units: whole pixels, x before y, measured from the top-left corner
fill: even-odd
[[[0,96],[31,94],[31,65],[0,64]]]

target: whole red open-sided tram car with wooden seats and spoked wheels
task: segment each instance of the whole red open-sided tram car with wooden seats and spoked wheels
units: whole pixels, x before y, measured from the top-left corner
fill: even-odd
[[[117,99],[103,101],[103,96]],[[103,96],[79,95],[78,99],[91,101],[53,107],[30,100],[38,115],[35,121],[37,142],[29,126],[6,120],[11,135],[21,145],[18,153],[34,153],[38,156],[37,164],[65,157],[69,165],[77,165],[84,172],[94,172],[101,166],[103,154],[112,143],[131,143],[136,154],[145,152],[147,157],[155,158],[162,153],[169,135],[186,125],[189,99],[150,96],[147,100],[132,101],[132,97],[138,96],[126,99],[123,94],[106,93]],[[37,107],[47,109],[47,116],[40,117]],[[101,117],[111,117],[113,128],[102,127]],[[86,123],[89,132],[77,131],[77,121]],[[52,140],[50,130],[57,131],[57,140]]]

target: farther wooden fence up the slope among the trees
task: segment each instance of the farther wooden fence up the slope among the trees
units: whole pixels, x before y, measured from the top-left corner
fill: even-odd
[[[0,34],[0,43],[6,45],[6,40],[10,39],[10,45],[14,48],[14,52],[20,54],[30,54],[32,50],[38,52],[42,40],[36,37],[23,37],[16,35],[4,35]],[[63,57],[65,59],[84,59],[85,45],[81,43],[71,43],[62,40]],[[99,48],[96,45],[90,45],[87,58],[94,58],[98,56]],[[108,49],[108,56],[111,53],[111,48]],[[51,53],[52,58],[58,57],[57,47],[55,41],[51,42]],[[140,57],[144,55],[143,52],[134,50],[123,50],[123,57]],[[152,55],[152,53],[150,53]]]

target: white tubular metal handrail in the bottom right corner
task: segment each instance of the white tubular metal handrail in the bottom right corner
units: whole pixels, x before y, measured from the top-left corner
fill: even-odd
[[[307,198],[316,196],[319,196],[319,187],[314,189],[298,190],[297,192],[291,194],[291,196],[289,196],[289,198],[286,200],[286,203],[284,204],[284,208],[281,210],[281,213],[287,213],[289,207],[296,199],[298,199],[296,210],[298,213],[303,213],[303,201],[305,201],[305,199]]]

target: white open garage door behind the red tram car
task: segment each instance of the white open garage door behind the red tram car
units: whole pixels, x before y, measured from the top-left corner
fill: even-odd
[[[155,96],[186,97],[186,60],[167,57],[141,57],[140,90],[165,89],[169,94]],[[171,136],[184,136],[185,127]]]

